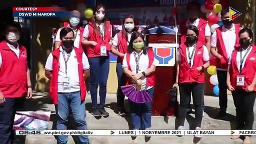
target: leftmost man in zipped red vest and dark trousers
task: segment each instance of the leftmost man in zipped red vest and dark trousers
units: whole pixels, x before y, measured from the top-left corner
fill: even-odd
[[[17,109],[32,97],[26,48],[17,43],[21,32],[18,22],[7,24],[6,40],[0,43],[0,143],[18,143],[13,131]],[[26,97],[27,96],[27,97]]]

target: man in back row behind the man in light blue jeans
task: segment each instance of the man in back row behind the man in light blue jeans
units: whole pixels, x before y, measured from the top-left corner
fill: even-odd
[[[78,25],[79,22],[80,22],[80,12],[78,10],[73,10],[72,16],[69,18],[69,23],[65,22],[63,28],[72,28],[74,30],[74,33],[75,33],[74,46],[77,48],[82,48],[81,40],[82,40],[82,34],[84,32],[84,28]],[[59,48],[62,42],[60,40],[61,29],[62,28],[60,28],[57,31],[57,34],[55,37],[55,49]]]

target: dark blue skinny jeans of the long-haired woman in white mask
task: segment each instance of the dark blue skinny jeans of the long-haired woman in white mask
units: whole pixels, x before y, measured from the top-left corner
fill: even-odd
[[[103,108],[106,101],[107,78],[109,76],[109,57],[92,57],[90,63],[91,80],[91,101],[93,109],[97,108],[97,89],[100,85],[100,108]]]

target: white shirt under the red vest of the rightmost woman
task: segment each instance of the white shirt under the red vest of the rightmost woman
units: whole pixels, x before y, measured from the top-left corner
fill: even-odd
[[[247,50],[249,50],[248,52],[247,52]],[[252,51],[252,47],[250,46],[250,49],[246,49],[246,50],[244,50],[243,48],[240,48],[240,50],[237,52],[237,57],[236,57],[236,61],[237,61],[237,68],[238,68],[238,71],[240,71],[240,65],[241,65],[241,62],[240,62],[240,54],[241,54],[241,56],[242,56],[242,59],[243,59],[243,57],[244,57],[244,61],[243,61],[243,63],[242,63],[242,69],[244,68],[244,64],[245,64],[245,61],[246,61],[246,59],[247,59],[247,57],[249,56],[249,54],[250,54],[250,52]],[[247,53],[246,53],[247,52]],[[244,56],[246,54],[246,56]],[[231,59],[232,59],[232,57],[230,57],[229,59],[228,59],[228,65],[231,65]]]

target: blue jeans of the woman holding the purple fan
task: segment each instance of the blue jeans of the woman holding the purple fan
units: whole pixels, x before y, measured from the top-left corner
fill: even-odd
[[[154,88],[146,90],[153,99]],[[131,122],[133,129],[146,129],[151,127],[152,101],[146,103],[134,103],[129,100],[131,110]]]

